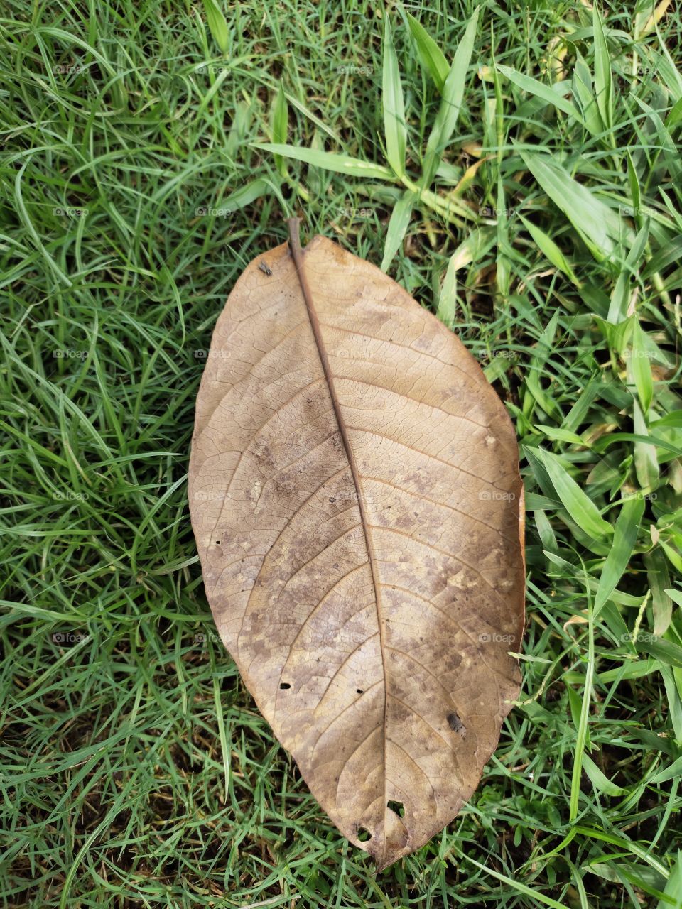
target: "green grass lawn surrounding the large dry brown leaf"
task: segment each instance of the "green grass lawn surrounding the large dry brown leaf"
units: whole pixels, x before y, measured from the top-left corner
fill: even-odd
[[[448,67],[470,0],[390,32],[364,0],[218,0],[216,37],[189,3],[7,0],[5,905],[682,904],[682,15],[652,8],[489,0],[429,143],[457,86],[404,12]],[[201,352],[296,213],[455,326],[527,484],[520,703],[379,875],[216,639],[187,511]]]

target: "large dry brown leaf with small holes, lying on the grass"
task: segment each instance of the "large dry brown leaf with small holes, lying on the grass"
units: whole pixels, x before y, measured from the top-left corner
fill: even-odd
[[[517,442],[445,325],[374,265],[294,235],[218,318],[192,524],[256,704],[381,869],[474,792],[519,691]]]

